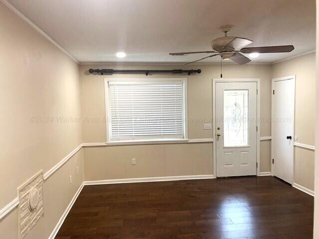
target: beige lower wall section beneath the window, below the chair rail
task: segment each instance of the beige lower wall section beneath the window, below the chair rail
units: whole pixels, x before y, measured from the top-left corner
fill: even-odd
[[[88,147],[85,180],[211,175],[212,152],[211,143]]]

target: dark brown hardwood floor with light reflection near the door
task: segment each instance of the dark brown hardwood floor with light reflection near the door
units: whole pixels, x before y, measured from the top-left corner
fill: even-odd
[[[271,176],[85,186],[56,239],[311,239],[313,210]]]

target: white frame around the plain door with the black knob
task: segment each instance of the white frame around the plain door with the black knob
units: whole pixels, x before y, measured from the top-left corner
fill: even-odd
[[[274,112],[273,112],[273,105],[275,104],[273,102],[273,89],[274,89],[274,83],[276,81],[286,81],[286,80],[294,80],[294,92],[295,92],[295,99],[294,99],[294,102],[293,102],[293,105],[294,105],[294,114],[293,114],[293,145],[295,143],[295,113],[296,113],[296,75],[291,75],[291,76],[284,76],[284,77],[278,77],[278,78],[273,78],[272,81],[271,81],[271,119],[273,119],[273,115],[274,115]],[[274,122],[273,120],[271,120],[271,135],[273,136],[274,135]],[[293,147],[293,151],[295,151],[295,147]],[[274,147],[273,147],[273,140],[271,141],[271,161],[270,161],[270,165],[271,165],[271,176],[274,176],[274,164],[272,162],[274,158]],[[293,183],[295,182],[295,152],[293,152]]]

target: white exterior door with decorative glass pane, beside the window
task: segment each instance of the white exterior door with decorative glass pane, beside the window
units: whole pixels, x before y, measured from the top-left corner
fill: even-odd
[[[216,82],[217,177],[257,174],[257,82]]]

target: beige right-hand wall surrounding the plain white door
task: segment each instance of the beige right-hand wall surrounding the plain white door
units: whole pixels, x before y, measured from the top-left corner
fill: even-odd
[[[316,53],[306,54],[273,65],[272,77],[296,75],[296,142],[315,145]],[[295,147],[295,183],[314,190],[315,151]]]

